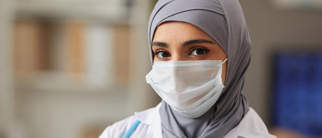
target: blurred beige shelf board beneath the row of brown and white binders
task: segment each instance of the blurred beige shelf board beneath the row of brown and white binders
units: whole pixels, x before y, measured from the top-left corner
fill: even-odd
[[[75,93],[117,93],[127,92],[127,84],[106,82],[106,84],[91,84],[86,79],[73,80],[69,74],[61,72],[44,72],[35,74],[29,79],[16,79],[17,91],[43,92],[75,92]]]

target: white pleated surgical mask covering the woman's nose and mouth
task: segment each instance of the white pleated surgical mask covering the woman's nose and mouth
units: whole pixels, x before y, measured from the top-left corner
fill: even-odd
[[[226,60],[156,61],[146,76],[147,83],[176,112],[196,118],[207,112],[223,91],[221,74]]]

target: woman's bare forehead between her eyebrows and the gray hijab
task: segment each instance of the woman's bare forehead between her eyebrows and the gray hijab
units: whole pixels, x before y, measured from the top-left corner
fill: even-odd
[[[214,42],[209,35],[197,26],[179,21],[161,23],[156,28],[152,42],[180,43],[191,39],[207,39]]]

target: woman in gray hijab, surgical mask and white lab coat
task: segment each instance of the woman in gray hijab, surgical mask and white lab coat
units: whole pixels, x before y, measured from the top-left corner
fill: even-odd
[[[100,138],[273,138],[243,95],[251,41],[237,0],[159,0],[149,20],[156,107]]]

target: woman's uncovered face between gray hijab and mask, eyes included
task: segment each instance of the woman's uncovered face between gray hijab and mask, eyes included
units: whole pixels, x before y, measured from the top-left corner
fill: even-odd
[[[153,61],[222,60],[227,54],[209,35],[198,27],[178,21],[160,24],[152,40]],[[225,82],[227,62],[223,64]]]

